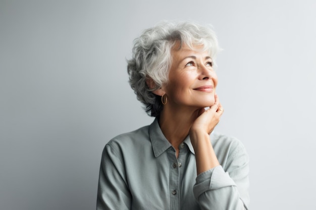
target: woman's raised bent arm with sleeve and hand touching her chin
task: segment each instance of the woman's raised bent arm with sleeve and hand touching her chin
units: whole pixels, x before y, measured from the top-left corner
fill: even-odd
[[[227,172],[220,166],[209,133],[220,120],[223,108],[216,102],[208,110],[202,110],[190,129],[195,151],[197,178],[193,191],[201,209],[247,209],[248,156],[239,144],[227,160]]]

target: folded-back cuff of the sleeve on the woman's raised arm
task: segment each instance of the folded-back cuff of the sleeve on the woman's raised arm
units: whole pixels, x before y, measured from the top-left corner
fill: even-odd
[[[222,166],[217,166],[196,177],[196,183],[193,187],[194,197],[198,199],[202,193],[208,190],[217,190],[227,186],[236,186],[236,184]]]

